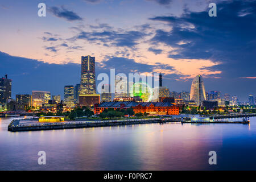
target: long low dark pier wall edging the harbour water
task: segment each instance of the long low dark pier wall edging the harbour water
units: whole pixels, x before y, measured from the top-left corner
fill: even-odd
[[[60,130],[60,129],[79,129],[86,127],[106,127],[122,125],[139,125],[148,123],[167,123],[181,122],[176,118],[145,118],[145,119],[121,119],[108,121],[64,121],[55,123],[28,123],[22,124],[20,121],[36,121],[35,119],[14,119],[8,126],[8,131],[36,131],[36,130]]]

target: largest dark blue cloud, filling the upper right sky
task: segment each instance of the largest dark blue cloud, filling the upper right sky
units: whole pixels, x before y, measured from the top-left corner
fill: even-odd
[[[221,71],[221,77],[250,77],[255,73],[256,1],[226,1],[217,5],[217,17],[208,11],[186,11],[180,17],[155,16],[151,20],[168,23],[171,31],[160,28],[151,44],[176,48],[174,59],[204,59],[221,63],[207,68]],[[241,16],[237,12],[246,12]],[[205,68],[203,68],[205,69]]]

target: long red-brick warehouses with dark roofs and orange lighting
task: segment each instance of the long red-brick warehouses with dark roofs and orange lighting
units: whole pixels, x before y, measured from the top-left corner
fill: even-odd
[[[128,109],[132,107],[134,113],[147,113],[150,115],[178,115],[179,107],[170,102],[102,102],[94,105],[94,113],[100,114],[105,109]]]

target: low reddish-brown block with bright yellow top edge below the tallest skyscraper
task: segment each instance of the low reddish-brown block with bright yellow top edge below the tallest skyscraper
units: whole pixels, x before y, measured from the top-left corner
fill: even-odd
[[[84,94],[79,95],[80,106],[94,106],[94,104],[100,104],[101,97],[99,94]]]

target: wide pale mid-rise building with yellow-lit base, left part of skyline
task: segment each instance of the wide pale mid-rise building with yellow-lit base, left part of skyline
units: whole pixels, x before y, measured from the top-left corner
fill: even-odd
[[[40,107],[51,100],[51,92],[32,90],[32,106]]]

